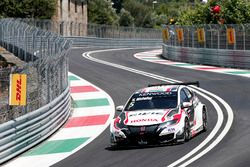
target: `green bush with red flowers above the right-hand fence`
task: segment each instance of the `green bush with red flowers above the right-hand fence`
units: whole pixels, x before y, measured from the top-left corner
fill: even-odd
[[[219,5],[220,13],[212,12]],[[246,0],[211,0],[206,4],[196,3],[195,8],[183,11],[178,24],[241,24],[249,23],[250,2]]]

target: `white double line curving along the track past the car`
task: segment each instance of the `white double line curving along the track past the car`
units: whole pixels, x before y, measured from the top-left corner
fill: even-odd
[[[116,50],[127,50],[127,49],[123,48],[123,49],[109,49],[109,50],[91,51],[91,52],[83,53],[83,57],[85,57],[85,58],[87,58],[87,59],[89,59],[91,61],[94,61],[94,62],[109,65],[109,66],[112,66],[112,67],[116,67],[116,68],[119,68],[119,69],[123,69],[123,70],[126,70],[126,71],[130,71],[130,72],[133,72],[133,73],[144,75],[144,76],[147,76],[147,77],[150,77],[150,78],[158,79],[158,80],[161,80],[161,81],[166,81],[166,82],[170,82],[170,83],[171,82],[181,82],[181,81],[177,81],[177,80],[174,80],[174,79],[171,79],[171,78],[166,78],[166,77],[162,77],[162,76],[155,75],[155,74],[152,74],[152,73],[147,73],[147,72],[144,72],[144,71],[140,71],[140,70],[136,70],[136,69],[133,69],[133,68],[126,67],[126,66],[122,66],[122,65],[119,65],[119,64],[106,62],[106,61],[99,60],[99,59],[96,59],[96,58],[93,58],[93,57],[90,56],[90,54],[93,54],[93,53],[99,53],[99,52],[105,52],[105,51],[116,51]],[[199,92],[199,91],[201,91],[201,92]],[[197,160],[198,158],[200,158],[201,156],[203,156],[204,154],[209,152],[212,148],[214,148],[225,137],[225,135],[228,133],[229,129],[231,128],[232,122],[233,122],[233,111],[232,111],[231,107],[227,104],[227,102],[225,102],[223,99],[221,99],[217,95],[215,95],[215,94],[213,94],[211,92],[208,92],[208,91],[206,91],[204,89],[201,89],[201,88],[199,88],[198,91],[196,91],[196,92],[199,92],[199,94],[201,96],[204,95],[202,92],[207,93],[210,96],[217,99],[218,101],[220,101],[222,103],[222,105],[224,105],[225,108],[226,108],[226,111],[227,111],[227,114],[228,114],[228,120],[227,120],[227,123],[226,123],[223,131],[218,135],[218,137],[207,148],[205,148],[201,153],[194,156],[192,159],[190,159],[186,163],[182,164],[182,166],[186,166],[186,165],[192,163],[193,161]],[[222,113],[221,109],[218,108],[219,107],[218,104],[214,100],[212,100],[211,98],[209,98],[209,97],[207,98],[206,95],[203,96],[203,97],[208,99],[216,108],[216,111],[217,111],[217,114],[218,114],[218,120],[217,120],[216,126],[211,131],[209,136],[202,143],[200,143],[200,145],[198,145],[196,148],[194,148],[192,151],[190,151],[188,154],[186,154],[185,156],[183,156],[179,160],[177,160],[174,163],[170,164],[169,166],[171,166],[171,167],[178,165],[179,163],[185,161],[187,158],[194,155],[197,151],[201,150],[206,144],[208,144],[209,141],[212,140],[212,138],[214,138],[214,136],[217,134],[217,132],[219,130],[218,128],[220,128],[221,125],[222,125],[221,121],[223,121],[223,113]]]

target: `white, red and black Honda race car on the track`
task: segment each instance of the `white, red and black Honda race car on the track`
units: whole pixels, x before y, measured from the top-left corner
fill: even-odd
[[[207,130],[207,108],[190,85],[149,85],[136,91],[111,122],[111,146],[185,142]]]

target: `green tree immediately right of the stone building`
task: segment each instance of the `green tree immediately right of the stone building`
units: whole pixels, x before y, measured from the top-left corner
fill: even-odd
[[[91,0],[88,2],[88,20],[91,23],[118,25],[119,17],[109,0]]]

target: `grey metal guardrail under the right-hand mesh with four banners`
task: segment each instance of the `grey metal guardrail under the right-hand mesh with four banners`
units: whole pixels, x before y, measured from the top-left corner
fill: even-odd
[[[250,68],[250,51],[205,49],[163,44],[162,56],[169,60],[230,68]]]

